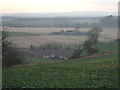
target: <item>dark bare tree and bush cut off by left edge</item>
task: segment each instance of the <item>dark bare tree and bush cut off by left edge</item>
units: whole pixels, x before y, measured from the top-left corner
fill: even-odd
[[[7,28],[2,30],[2,66],[9,67],[22,63],[22,58],[18,50],[9,41]]]

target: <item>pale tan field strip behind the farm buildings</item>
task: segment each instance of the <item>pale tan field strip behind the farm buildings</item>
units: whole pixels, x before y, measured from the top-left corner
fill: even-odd
[[[10,32],[29,32],[29,33],[37,33],[37,34],[48,34],[50,32],[59,32],[62,29],[69,30],[69,29],[73,29],[74,28],[56,28],[56,27],[44,27],[44,28],[35,28],[35,27],[26,27],[26,28],[22,28],[22,27],[9,27],[8,31]],[[90,28],[80,28],[81,32],[87,32]],[[109,31],[108,31],[109,30]],[[103,28],[102,34],[103,35],[108,35],[111,37],[116,37],[118,33],[118,29],[115,27],[111,27],[111,28]]]

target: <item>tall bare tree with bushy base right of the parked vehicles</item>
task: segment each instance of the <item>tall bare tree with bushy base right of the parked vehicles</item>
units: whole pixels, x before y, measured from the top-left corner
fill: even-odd
[[[81,57],[83,51],[87,51],[88,55],[92,55],[97,52],[97,49],[94,48],[94,45],[98,43],[98,37],[100,32],[102,31],[99,27],[93,27],[88,32],[88,40],[86,40],[83,45],[78,46],[78,48],[74,51],[72,58]]]

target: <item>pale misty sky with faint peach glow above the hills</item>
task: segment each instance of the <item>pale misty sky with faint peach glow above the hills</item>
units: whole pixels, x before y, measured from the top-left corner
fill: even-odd
[[[0,0],[0,13],[117,12],[119,0]]]

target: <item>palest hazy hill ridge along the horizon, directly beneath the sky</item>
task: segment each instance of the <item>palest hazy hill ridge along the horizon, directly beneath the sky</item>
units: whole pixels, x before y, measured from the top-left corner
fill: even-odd
[[[2,15],[13,17],[99,17],[107,15],[117,16],[117,12],[3,13]]]

